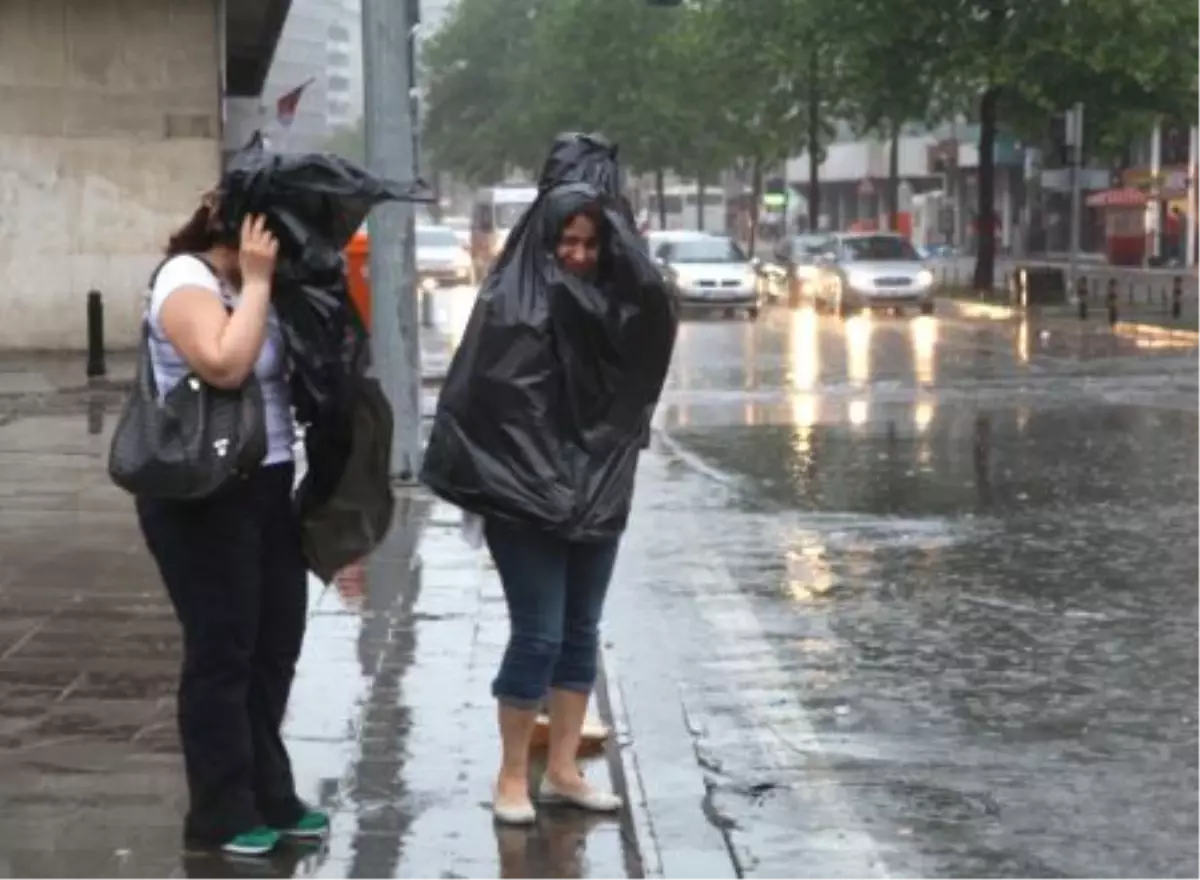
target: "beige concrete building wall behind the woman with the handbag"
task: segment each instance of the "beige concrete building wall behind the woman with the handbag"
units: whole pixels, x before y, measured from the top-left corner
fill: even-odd
[[[260,89],[258,29],[286,11],[0,2],[0,349],[83,348],[90,289],[109,343],[134,343],[166,237],[217,180],[223,97]]]

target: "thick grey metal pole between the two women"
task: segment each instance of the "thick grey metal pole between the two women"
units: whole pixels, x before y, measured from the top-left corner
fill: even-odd
[[[415,176],[409,95],[413,23],[403,0],[362,0],[364,122],[367,167],[394,180]],[[391,474],[415,483],[421,459],[421,349],[416,315],[413,205],[380,205],[368,221],[371,358],[395,415]]]

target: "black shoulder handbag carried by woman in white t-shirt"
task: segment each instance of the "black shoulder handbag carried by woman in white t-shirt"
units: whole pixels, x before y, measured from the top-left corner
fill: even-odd
[[[263,389],[251,373],[236,390],[214,388],[188,373],[158,400],[150,359],[150,322],[133,391],[108,454],[108,475],[136,496],[204,498],[266,455]]]

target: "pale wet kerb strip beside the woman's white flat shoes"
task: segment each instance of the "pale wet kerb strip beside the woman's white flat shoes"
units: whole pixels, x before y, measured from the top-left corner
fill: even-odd
[[[601,687],[596,688],[596,702],[600,716],[612,730],[606,749],[608,770],[612,774],[613,790],[625,801],[622,815],[623,833],[632,848],[632,858],[628,860],[626,867],[630,876],[637,880],[662,880],[665,878],[662,855],[659,851],[654,820],[642,786],[642,774],[634,749],[629,712],[622,695],[617,660],[604,640],[600,643],[600,678]]]

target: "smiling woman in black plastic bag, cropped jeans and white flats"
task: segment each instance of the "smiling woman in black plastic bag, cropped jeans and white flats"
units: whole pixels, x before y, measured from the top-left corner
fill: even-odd
[[[598,625],[637,457],[671,358],[676,307],[616,193],[614,150],[544,186],[480,291],[438,402],[425,481],[482,519],[511,636],[492,684],[503,744],[493,813],[532,824],[529,743],[550,712],[544,802],[614,812],[576,765]],[[554,164],[548,162],[547,166]],[[562,173],[562,163],[554,164]],[[595,169],[596,173],[590,173]]]

